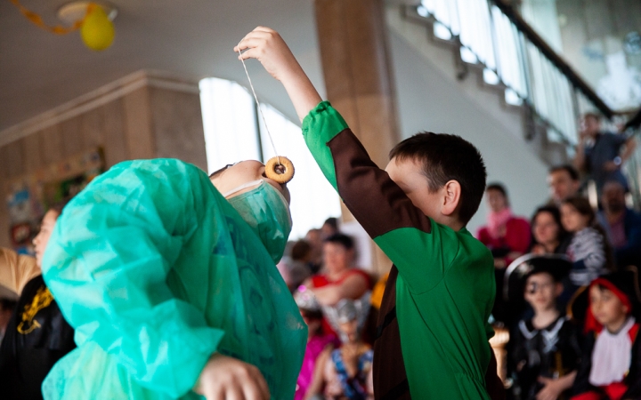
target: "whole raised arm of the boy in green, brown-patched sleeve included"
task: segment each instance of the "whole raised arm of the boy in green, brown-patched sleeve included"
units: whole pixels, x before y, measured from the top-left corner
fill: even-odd
[[[374,164],[337,110],[321,102],[282,38],[272,29],[259,27],[239,48],[249,49],[243,58],[260,60],[285,86],[303,121],[304,140],[321,171],[410,287],[423,291],[438,282],[447,264],[442,260],[442,233],[434,230],[432,220],[412,204],[388,173]],[[423,251],[407,252],[408,248]],[[426,271],[417,265],[432,268]]]

